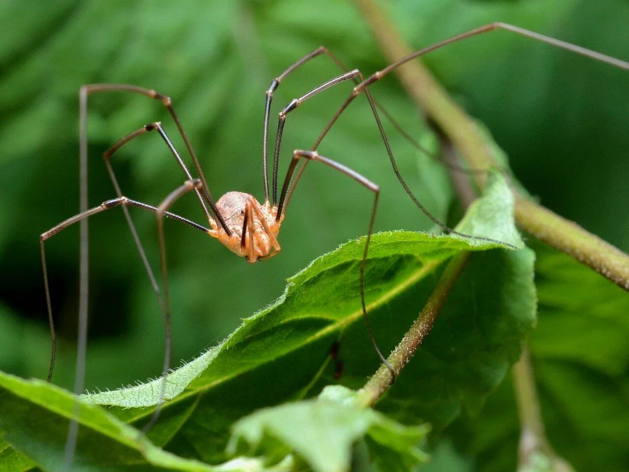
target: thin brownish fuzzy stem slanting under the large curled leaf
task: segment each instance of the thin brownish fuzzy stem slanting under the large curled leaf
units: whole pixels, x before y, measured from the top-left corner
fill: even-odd
[[[430,332],[468,258],[469,252],[462,252],[450,259],[443,270],[437,287],[430,295],[430,298],[428,298],[424,309],[421,310],[420,316],[406,332],[398,346],[391,352],[391,355],[387,357],[387,361],[393,368],[396,376],[408,364],[417,347],[420,346],[426,334]],[[391,371],[382,364],[374,376],[360,389],[359,403],[364,407],[374,405],[382,396],[382,393],[389,388],[391,381]]]

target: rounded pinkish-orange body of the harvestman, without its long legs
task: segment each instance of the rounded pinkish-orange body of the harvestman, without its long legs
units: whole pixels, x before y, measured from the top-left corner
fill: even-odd
[[[277,208],[268,201],[261,205],[248,193],[228,192],[216,202],[216,208],[231,234],[228,235],[220,225],[213,225],[209,235],[216,237],[231,252],[252,264],[279,252],[277,234],[283,218],[276,222]]]

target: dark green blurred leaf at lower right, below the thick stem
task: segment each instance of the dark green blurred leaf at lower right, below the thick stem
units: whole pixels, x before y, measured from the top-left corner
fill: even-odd
[[[629,461],[629,296],[562,252],[530,240],[537,253],[538,325],[533,371],[550,444],[577,471],[621,472]],[[519,422],[510,383],[476,419],[451,431],[479,469],[514,469]]]

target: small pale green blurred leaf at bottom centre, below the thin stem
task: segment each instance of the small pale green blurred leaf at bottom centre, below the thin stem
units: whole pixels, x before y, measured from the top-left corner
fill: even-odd
[[[428,429],[407,427],[353,402],[354,392],[328,386],[318,398],[264,408],[239,420],[228,449],[233,453],[277,450],[277,443],[301,456],[315,472],[342,472],[350,467],[353,445],[367,439],[383,470],[406,471],[425,460],[417,449]],[[242,444],[242,443],[245,444]]]

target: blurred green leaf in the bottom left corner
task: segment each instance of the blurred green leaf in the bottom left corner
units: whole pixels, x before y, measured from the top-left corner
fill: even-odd
[[[0,373],[0,470],[24,470],[34,463],[64,471],[69,420],[77,405],[69,392],[40,380],[26,381]],[[79,401],[79,442],[74,471],[171,470],[189,472],[262,471],[255,459],[235,459],[221,466],[182,459],[153,446],[140,431],[103,408]],[[7,446],[28,454],[32,461]],[[33,463],[34,461],[34,463]],[[286,466],[286,464],[284,464]]]

